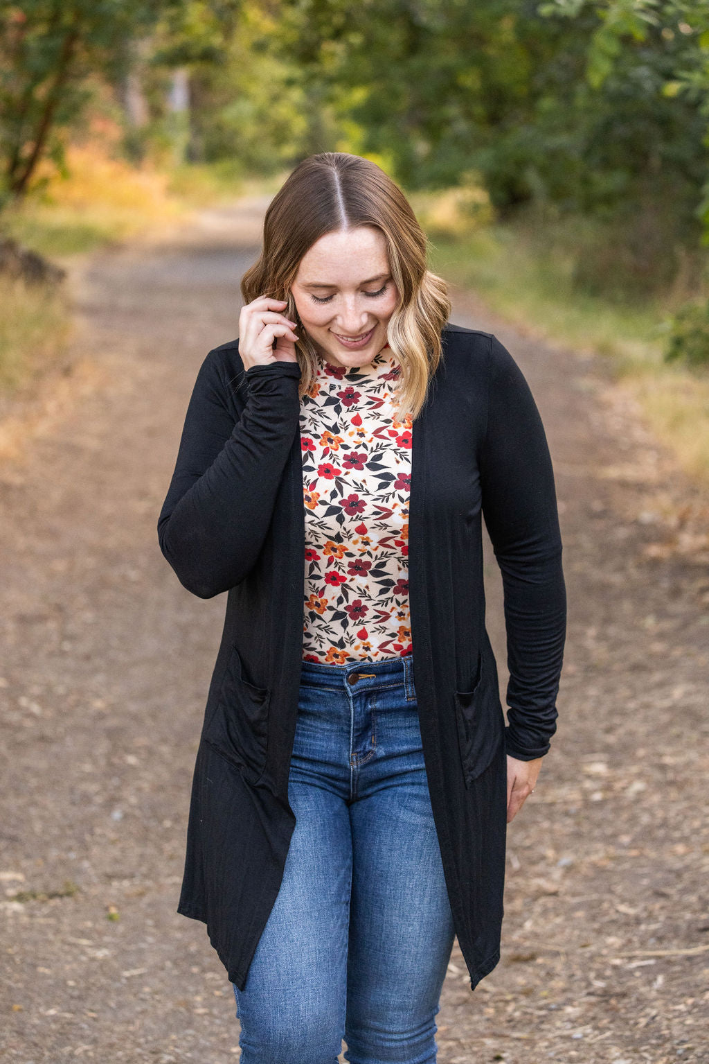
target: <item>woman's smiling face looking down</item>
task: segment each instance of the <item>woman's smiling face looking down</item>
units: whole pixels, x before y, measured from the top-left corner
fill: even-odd
[[[367,365],[387,343],[399,301],[384,234],[374,226],[325,233],[301,260],[291,292],[320,355]]]

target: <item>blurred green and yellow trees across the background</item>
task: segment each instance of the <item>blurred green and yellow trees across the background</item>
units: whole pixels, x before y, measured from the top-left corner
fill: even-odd
[[[707,295],[708,128],[709,0],[0,3],[5,205],[100,130],[234,179],[353,151],[483,197],[578,292],[674,310]]]

